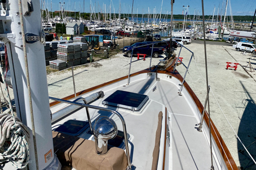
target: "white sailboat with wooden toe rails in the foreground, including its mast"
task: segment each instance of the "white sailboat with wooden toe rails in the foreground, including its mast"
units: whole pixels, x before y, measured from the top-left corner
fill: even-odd
[[[128,76],[49,97],[40,1],[33,8],[9,2],[0,39],[20,120],[13,109],[0,115],[2,169],[237,169],[206,104],[185,81],[192,51],[183,77],[175,53],[132,74],[131,58]]]

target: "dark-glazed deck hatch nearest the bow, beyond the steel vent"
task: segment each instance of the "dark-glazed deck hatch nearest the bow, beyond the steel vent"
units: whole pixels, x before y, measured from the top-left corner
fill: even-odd
[[[103,104],[137,111],[141,109],[148,99],[149,97],[144,94],[117,90],[107,97]]]

